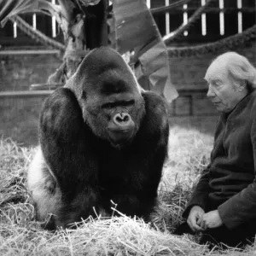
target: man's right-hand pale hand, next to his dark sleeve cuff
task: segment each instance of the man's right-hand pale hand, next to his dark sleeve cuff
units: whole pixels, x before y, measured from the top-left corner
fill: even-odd
[[[201,215],[197,224],[201,226],[201,229],[207,230],[220,227],[223,224],[223,221],[218,214],[218,210],[214,210]]]

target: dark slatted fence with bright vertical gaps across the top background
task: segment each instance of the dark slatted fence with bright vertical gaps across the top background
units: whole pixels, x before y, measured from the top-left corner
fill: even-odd
[[[145,0],[154,15],[154,20],[163,37],[172,33],[177,27],[186,24],[207,0],[190,0],[174,9],[165,7],[172,3],[171,0]],[[55,3],[55,0],[52,0]],[[43,32],[56,41],[62,41],[60,28],[55,17],[43,14],[20,15],[35,29]],[[255,1],[253,0],[215,0],[207,8],[207,12],[195,21],[189,31],[183,32],[178,38],[180,44],[195,42],[212,42],[225,38],[237,32],[243,32],[255,24]],[[3,46],[38,45],[32,38],[26,36],[15,23],[8,21],[3,29],[0,29],[0,44]]]

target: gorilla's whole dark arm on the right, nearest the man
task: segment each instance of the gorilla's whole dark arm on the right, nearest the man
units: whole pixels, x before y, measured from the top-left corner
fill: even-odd
[[[157,198],[167,156],[169,123],[166,102],[160,96],[145,92],[143,98],[146,116],[131,148],[131,160],[127,162],[131,180],[126,184],[126,195],[119,195],[113,201],[118,204],[120,212],[127,212],[128,215],[129,212],[131,215],[136,212],[137,216],[147,218]]]

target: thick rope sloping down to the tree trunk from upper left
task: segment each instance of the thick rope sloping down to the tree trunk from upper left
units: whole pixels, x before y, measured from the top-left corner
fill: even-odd
[[[36,29],[33,29],[25,20],[20,18],[20,16],[12,16],[9,18],[12,22],[16,22],[17,26],[22,32],[25,32],[30,38],[36,40],[37,42],[49,46],[54,49],[65,50],[65,45],[55,41],[52,38],[47,37],[44,33],[39,32]]]

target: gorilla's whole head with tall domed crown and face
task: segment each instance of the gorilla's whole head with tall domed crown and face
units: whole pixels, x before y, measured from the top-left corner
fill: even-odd
[[[131,68],[115,50],[94,49],[66,87],[74,91],[84,121],[115,148],[132,142],[143,116],[143,96]]]

